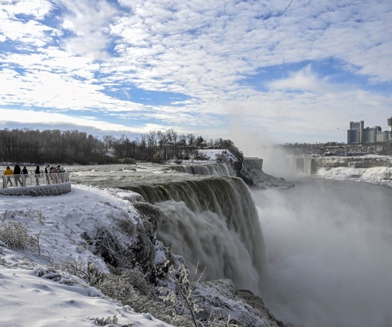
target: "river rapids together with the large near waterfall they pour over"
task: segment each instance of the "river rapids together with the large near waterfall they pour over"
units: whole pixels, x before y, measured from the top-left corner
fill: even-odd
[[[193,174],[179,173],[178,167]],[[249,188],[241,179],[228,176],[224,165],[112,165],[90,167],[90,171],[73,166],[66,170],[75,182],[141,194],[164,214],[158,237],[185,258],[191,271],[198,264],[207,268],[204,279],[230,278],[237,288],[259,293],[266,256],[257,209]]]

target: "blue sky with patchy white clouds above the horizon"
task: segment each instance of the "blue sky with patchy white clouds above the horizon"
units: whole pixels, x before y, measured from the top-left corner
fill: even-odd
[[[0,0],[0,129],[346,141],[392,116],[387,0]]]

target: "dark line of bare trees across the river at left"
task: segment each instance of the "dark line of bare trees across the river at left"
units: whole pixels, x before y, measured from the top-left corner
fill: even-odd
[[[150,131],[131,140],[105,135],[102,139],[78,130],[0,130],[0,161],[43,164],[115,164],[132,160],[163,162],[197,156],[197,149],[230,150],[237,158],[242,152],[230,139],[204,139],[201,135],[179,134],[173,129]]]

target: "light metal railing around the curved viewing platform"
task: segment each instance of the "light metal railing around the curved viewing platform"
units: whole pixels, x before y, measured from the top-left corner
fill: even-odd
[[[69,181],[68,173],[54,174],[20,174],[3,175],[3,189],[65,183]]]

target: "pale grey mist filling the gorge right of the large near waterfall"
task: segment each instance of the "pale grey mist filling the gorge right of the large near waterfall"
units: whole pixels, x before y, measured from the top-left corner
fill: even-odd
[[[392,326],[391,197],[385,187],[328,180],[254,192],[267,308],[296,327]]]

